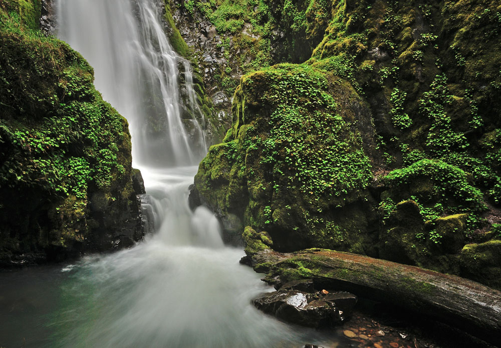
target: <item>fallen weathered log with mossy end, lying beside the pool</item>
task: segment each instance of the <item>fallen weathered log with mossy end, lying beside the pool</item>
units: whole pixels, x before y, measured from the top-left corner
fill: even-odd
[[[247,261],[258,272],[267,273],[264,280],[270,283],[313,278],[316,288],[335,288],[389,302],[501,346],[501,292],[474,281],[323,249],[294,253],[267,249],[253,254]]]

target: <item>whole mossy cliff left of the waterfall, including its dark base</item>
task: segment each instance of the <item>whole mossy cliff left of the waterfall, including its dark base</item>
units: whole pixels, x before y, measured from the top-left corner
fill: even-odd
[[[0,17],[1,262],[131,245],[141,192],[127,121],[83,57],[37,29],[39,1],[3,2]]]

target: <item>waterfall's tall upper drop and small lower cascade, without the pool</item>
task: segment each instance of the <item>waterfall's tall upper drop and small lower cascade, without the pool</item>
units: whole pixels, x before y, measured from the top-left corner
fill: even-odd
[[[215,218],[187,205],[196,168],[181,167],[198,164],[206,152],[204,117],[191,65],[172,49],[157,3],[59,0],[56,6],[59,37],[88,60],[96,88],[129,122],[133,165],[148,193],[143,209],[158,234],[170,245],[222,246]],[[204,232],[195,228],[200,216],[208,219]]]

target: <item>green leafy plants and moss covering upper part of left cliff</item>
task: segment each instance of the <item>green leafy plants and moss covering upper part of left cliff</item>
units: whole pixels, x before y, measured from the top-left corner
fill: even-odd
[[[127,123],[94,89],[87,62],[62,41],[0,11],[0,187],[86,200],[124,174]],[[23,60],[20,59],[23,57]],[[122,164],[121,164],[122,163]]]

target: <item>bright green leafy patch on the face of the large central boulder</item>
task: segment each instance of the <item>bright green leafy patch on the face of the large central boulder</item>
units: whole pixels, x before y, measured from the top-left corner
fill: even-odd
[[[276,106],[270,116],[270,136],[263,142],[263,161],[276,175],[292,176],[286,180],[288,187],[299,184],[316,200],[324,194],[342,196],[366,188],[369,160],[357,148],[360,137],[351,134],[337,113],[326,77],[308,66],[281,66],[265,76],[274,81],[265,100]]]

